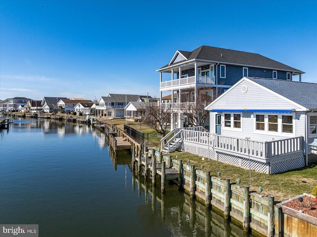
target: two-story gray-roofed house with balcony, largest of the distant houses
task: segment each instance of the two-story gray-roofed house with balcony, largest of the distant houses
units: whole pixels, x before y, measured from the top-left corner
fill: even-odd
[[[126,94],[108,94],[102,96],[97,106],[97,116],[99,117],[124,117],[124,107],[131,101],[138,101],[146,96],[126,95]]]

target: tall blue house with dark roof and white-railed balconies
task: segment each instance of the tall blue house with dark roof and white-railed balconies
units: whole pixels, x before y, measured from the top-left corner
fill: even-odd
[[[304,73],[257,53],[208,46],[193,51],[177,50],[170,62],[157,71],[160,73],[160,102],[163,95],[177,94],[171,129],[184,124],[185,117],[179,109],[181,103],[198,103],[202,95],[210,96],[212,101],[242,77],[292,81],[293,76],[299,76],[301,81]]]

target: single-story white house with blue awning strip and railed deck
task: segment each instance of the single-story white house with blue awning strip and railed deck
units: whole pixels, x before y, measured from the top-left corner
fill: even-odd
[[[184,151],[268,174],[316,161],[315,83],[244,77],[206,109],[210,131],[179,129],[162,147],[177,140]]]

